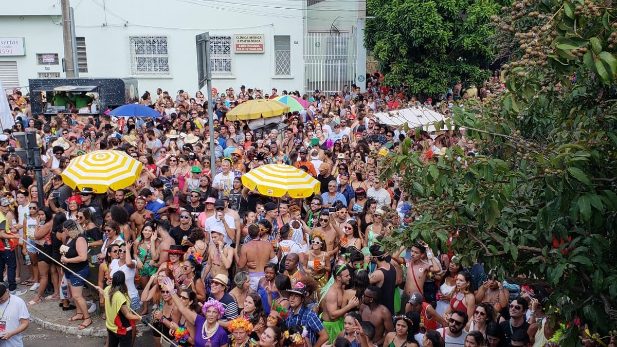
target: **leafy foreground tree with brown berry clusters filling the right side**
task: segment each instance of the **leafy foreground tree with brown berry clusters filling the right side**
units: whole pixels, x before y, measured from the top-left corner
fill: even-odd
[[[579,317],[606,337],[617,327],[617,10],[589,0],[512,6],[498,34],[518,41],[503,67],[507,90],[454,109],[482,156],[455,146],[428,163],[387,157],[386,175],[404,174],[420,216],[390,245],[443,246],[455,235],[463,264],[550,286],[562,320]],[[564,337],[561,346],[579,345],[578,327]]]

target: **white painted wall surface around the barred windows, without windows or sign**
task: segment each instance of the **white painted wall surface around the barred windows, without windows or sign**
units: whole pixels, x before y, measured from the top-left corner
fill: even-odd
[[[0,15],[1,37],[25,38],[26,56],[0,56],[0,61],[18,62],[22,86],[27,86],[28,78],[36,78],[37,72],[61,71],[61,65],[51,65],[50,70],[36,65],[36,53],[58,53],[60,60],[64,56],[57,1],[30,2],[33,4],[28,8],[20,11],[13,8]],[[263,34],[265,52],[234,54],[234,75],[216,78],[213,86],[219,91],[230,86],[239,90],[240,85],[259,86],[264,91],[274,86],[278,90],[301,90],[304,74],[301,4],[302,1],[289,5],[284,0],[73,1],[72,6],[77,7],[77,36],[85,37],[88,56],[88,73],[80,73],[80,77],[131,76],[129,36],[163,35],[168,38],[170,73],[164,77],[137,76],[139,90],[154,92],[160,87],[170,94],[179,89],[193,94],[197,89],[195,35],[205,31],[210,31],[211,36]],[[292,75],[289,77],[275,76],[274,35],[291,36]]]

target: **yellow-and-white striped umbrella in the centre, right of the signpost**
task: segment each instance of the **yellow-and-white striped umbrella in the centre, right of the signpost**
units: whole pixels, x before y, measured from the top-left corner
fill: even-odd
[[[310,174],[291,165],[268,164],[256,167],[242,175],[242,184],[260,194],[280,198],[289,193],[291,198],[308,198],[319,194],[320,182]]]

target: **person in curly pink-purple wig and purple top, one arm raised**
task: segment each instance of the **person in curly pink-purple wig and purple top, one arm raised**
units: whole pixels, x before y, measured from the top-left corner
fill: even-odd
[[[175,290],[175,282],[170,278],[163,280],[163,285],[169,291],[176,304],[178,311],[186,319],[186,322],[195,325],[195,347],[228,347],[230,340],[227,337],[227,332],[219,323],[218,319],[225,315],[225,306],[215,299],[208,299],[202,308],[201,314],[184,306],[182,299],[178,296]]]

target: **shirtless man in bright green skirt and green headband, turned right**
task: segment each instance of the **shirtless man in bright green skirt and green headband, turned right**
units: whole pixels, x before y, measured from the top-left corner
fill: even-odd
[[[330,344],[342,332],[345,314],[354,309],[358,304],[358,298],[355,296],[349,299],[347,304],[343,304],[345,286],[349,285],[349,280],[351,279],[347,265],[337,265],[332,273],[334,283],[328,288],[326,295],[322,297],[319,303],[323,311],[321,320],[323,327],[328,332],[328,343]]]

